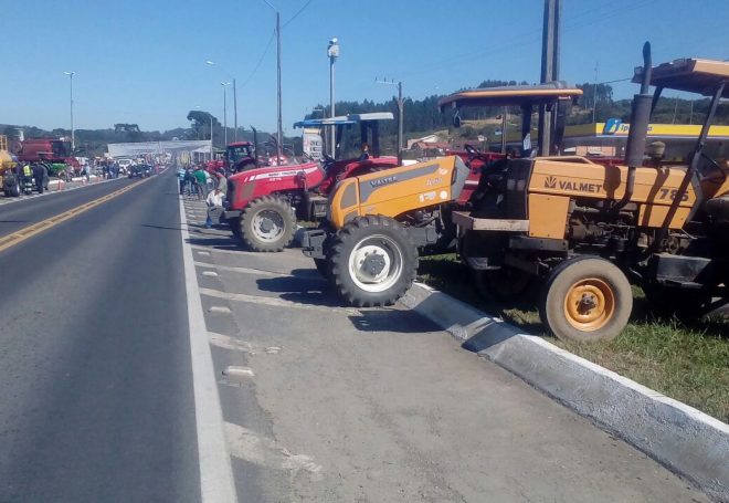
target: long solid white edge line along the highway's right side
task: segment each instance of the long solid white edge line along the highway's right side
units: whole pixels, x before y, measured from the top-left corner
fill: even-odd
[[[177,180],[176,185],[177,185]],[[187,220],[180,198],[180,220]],[[200,496],[203,503],[231,503],[236,501],[233,471],[223,433],[223,415],[215,383],[208,331],[198,289],[198,275],[188,244],[190,234],[182,227],[180,241],[184,262],[184,286],[188,297],[188,324],[190,331],[190,359],[192,363],[192,389],[200,464]]]

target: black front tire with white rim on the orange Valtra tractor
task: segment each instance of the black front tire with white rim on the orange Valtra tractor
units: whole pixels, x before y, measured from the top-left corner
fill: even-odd
[[[391,305],[415,280],[418,247],[398,221],[360,217],[334,237],[327,272],[337,293],[350,304]]]

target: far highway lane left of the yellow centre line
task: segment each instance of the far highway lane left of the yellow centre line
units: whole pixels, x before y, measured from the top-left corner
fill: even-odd
[[[0,206],[0,238],[138,181],[118,178],[68,191],[44,192]],[[4,199],[4,197],[2,198]]]

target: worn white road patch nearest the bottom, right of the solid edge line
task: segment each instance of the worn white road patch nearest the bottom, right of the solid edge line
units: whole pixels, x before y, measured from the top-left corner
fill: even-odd
[[[293,472],[308,472],[313,481],[321,480],[323,467],[306,454],[293,454],[275,440],[261,437],[232,422],[225,423],[225,437],[231,455],[261,467]]]

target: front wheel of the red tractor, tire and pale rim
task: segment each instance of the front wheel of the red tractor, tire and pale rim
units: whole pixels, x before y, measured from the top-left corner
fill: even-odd
[[[294,240],[296,214],[288,201],[264,196],[251,201],[241,217],[243,242],[256,252],[279,252]]]

